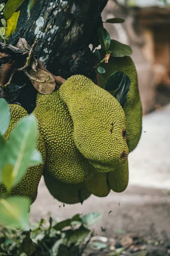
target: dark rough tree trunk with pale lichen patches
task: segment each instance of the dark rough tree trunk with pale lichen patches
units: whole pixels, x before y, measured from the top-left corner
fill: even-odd
[[[95,81],[92,52],[98,46],[97,29],[102,26],[101,12],[108,0],[37,0],[27,14],[28,0],[20,9],[17,30],[9,43],[16,45],[19,37],[31,45],[37,41],[35,53],[47,69],[64,79],[82,74]],[[20,74],[15,75],[15,79]],[[27,111],[35,107],[36,92],[29,80],[21,89],[17,102]],[[23,79],[22,79],[23,83]],[[21,85],[21,84],[20,84]]]

